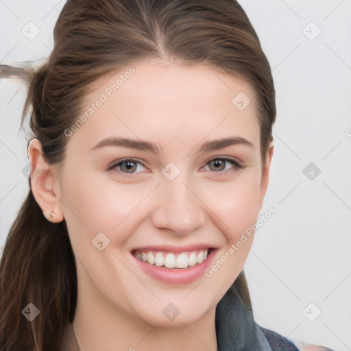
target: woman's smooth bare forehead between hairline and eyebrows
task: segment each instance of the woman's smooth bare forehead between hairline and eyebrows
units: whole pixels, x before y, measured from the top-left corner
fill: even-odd
[[[160,145],[174,137],[195,142],[209,134],[241,134],[258,146],[255,103],[245,80],[205,64],[140,62],[90,85],[82,114],[89,108],[92,113],[76,134],[128,134],[158,139]]]

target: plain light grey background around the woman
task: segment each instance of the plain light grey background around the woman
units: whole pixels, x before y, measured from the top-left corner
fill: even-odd
[[[0,0],[0,60],[49,56],[64,2]],[[277,212],[245,265],[254,315],[289,338],[351,350],[351,0],[239,2],[271,63],[278,109],[262,213]],[[36,27],[32,40],[21,32]],[[2,247],[28,191],[24,97],[21,82],[0,80]],[[321,170],[312,180],[310,162]]]

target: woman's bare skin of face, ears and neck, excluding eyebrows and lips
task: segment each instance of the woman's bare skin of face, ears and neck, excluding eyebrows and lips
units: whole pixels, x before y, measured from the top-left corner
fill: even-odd
[[[66,157],[48,165],[37,139],[29,143],[32,189],[49,220],[66,220],[77,263],[78,300],[73,327],[81,351],[217,350],[215,307],[243,269],[253,237],[213,276],[171,285],[143,272],[131,250],[143,245],[206,243],[214,261],[256,223],[269,181],[274,146],[261,162],[254,91],[245,81],[205,65],[144,61],[136,72],[78,130],[69,136]],[[90,86],[82,113],[121,72]],[[240,111],[232,99],[251,99]],[[108,136],[156,143],[156,154],[126,147],[92,149]],[[202,143],[241,136],[252,143],[197,154]],[[226,156],[219,170],[213,158]],[[138,158],[131,177],[121,158]],[[173,162],[180,174],[169,180],[162,168]],[[218,165],[217,165],[218,167]],[[125,170],[125,168],[124,168]],[[128,172],[128,171],[127,171]],[[124,174],[130,174],[125,172]],[[227,172],[227,173],[225,173]],[[92,245],[104,232],[104,250]],[[180,314],[169,321],[162,310],[173,303]]]

